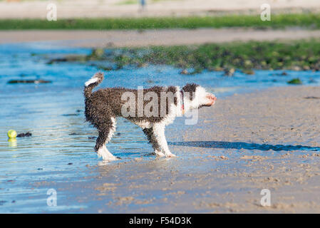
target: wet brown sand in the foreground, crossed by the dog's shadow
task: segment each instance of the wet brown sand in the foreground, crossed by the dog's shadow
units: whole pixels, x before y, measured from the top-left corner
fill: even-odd
[[[175,158],[123,157],[88,165],[85,182],[31,187],[55,188],[59,205],[85,205],[68,212],[319,213],[319,113],[318,87],[234,94],[202,108],[197,125],[167,128]],[[270,207],[260,204],[262,189]]]

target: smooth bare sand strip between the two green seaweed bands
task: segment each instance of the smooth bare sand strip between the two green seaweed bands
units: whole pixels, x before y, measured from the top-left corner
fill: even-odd
[[[319,30],[287,28],[255,30],[252,28],[199,28],[128,31],[28,30],[0,31],[0,43],[51,41],[56,46],[130,47],[170,46],[232,41],[275,41],[320,38]]]

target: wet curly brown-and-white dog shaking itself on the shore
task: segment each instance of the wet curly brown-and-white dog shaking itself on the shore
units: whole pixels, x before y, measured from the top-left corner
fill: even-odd
[[[179,86],[154,86],[148,89],[102,88],[92,93],[103,81],[103,74],[96,73],[85,83],[86,120],[98,129],[95,150],[103,160],[116,160],[105,144],[115,133],[116,117],[123,117],[143,129],[155,154],[174,157],[165,139],[165,126],[185,110],[211,106],[217,99],[205,88],[196,84]],[[150,99],[153,98],[153,99]],[[151,105],[150,105],[151,104]]]

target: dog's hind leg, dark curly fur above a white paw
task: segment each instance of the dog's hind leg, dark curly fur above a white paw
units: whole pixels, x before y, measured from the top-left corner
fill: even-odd
[[[100,123],[98,132],[99,136],[95,146],[98,156],[102,157],[103,160],[116,160],[117,158],[113,156],[105,146],[112,138],[113,133],[115,133],[115,118],[110,118],[109,120],[104,120],[103,123]]]

